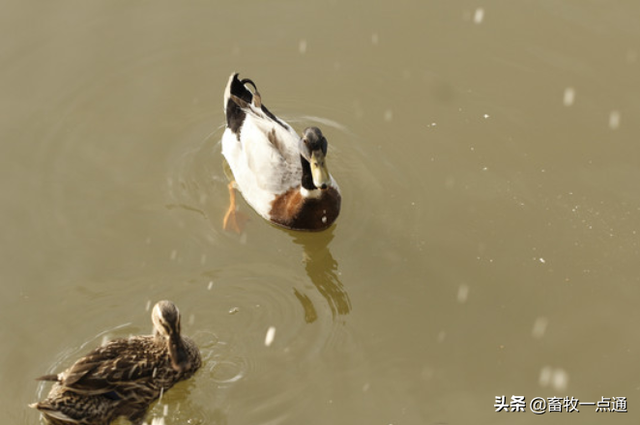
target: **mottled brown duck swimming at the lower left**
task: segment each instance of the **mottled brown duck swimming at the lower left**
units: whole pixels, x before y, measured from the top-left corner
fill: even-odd
[[[195,343],[180,334],[180,312],[160,301],[151,313],[153,335],[115,339],[57,375],[47,398],[30,405],[52,425],[108,425],[124,416],[135,425],[149,405],[202,361]]]

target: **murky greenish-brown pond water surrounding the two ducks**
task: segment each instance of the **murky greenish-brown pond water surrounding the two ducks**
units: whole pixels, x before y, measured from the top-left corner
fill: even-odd
[[[33,378],[150,331],[163,298],[205,358],[152,409],[167,425],[637,423],[637,2],[3,9],[6,423],[37,424]],[[222,231],[232,71],[322,127],[328,232],[244,203]],[[628,413],[537,418],[553,396]]]

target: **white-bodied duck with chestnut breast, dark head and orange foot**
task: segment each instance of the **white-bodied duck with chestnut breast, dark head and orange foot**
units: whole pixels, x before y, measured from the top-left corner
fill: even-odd
[[[249,86],[253,91],[249,90]],[[340,213],[340,190],[326,163],[327,139],[317,127],[302,137],[262,103],[256,85],[234,73],[224,92],[227,126],[222,154],[235,181],[223,226],[240,231],[235,189],[265,219],[293,230],[324,230]]]

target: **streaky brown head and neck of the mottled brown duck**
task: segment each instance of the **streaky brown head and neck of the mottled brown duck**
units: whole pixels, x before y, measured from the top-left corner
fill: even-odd
[[[178,372],[183,372],[190,366],[187,353],[180,336],[180,310],[171,301],[158,301],[153,307],[151,320],[154,335],[166,340],[171,357],[171,366]]]

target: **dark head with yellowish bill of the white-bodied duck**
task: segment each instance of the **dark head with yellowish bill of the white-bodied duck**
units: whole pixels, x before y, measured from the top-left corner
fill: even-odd
[[[300,139],[302,187],[325,190],[331,184],[327,169],[327,139],[318,127],[307,127]]]

